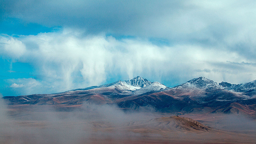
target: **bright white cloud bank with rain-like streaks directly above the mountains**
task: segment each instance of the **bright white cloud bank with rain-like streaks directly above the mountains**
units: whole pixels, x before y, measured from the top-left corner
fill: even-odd
[[[237,52],[201,45],[159,46],[143,38],[116,39],[105,34],[88,35],[76,29],[5,38],[1,45],[11,45],[7,43],[11,39],[20,43],[24,52],[2,56],[29,63],[37,75],[43,76],[8,79],[9,86],[17,87],[15,90],[22,94],[62,92],[138,75],[170,87],[199,76],[230,83],[256,78],[256,67],[247,64],[255,63],[253,60]],[[19,48],[10,46],[10,51],[16,49]]]

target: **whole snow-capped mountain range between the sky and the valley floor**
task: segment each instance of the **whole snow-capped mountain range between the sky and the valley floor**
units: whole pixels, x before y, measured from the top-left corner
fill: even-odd
[[[256,115],[256,80],[243,84],[216,83],[197,77],[169,88],[140,76],[131,80],[70,90],[56,94],[3,97],[9,105],[105,105],[124,110],[176,114],[235,113]]]

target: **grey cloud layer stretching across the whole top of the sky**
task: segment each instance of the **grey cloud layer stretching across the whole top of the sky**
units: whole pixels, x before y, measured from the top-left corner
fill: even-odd
[[[256,3],[245,1],[1,1],[2,16],[26,23],[168,39],[240,52],[255,61]]]

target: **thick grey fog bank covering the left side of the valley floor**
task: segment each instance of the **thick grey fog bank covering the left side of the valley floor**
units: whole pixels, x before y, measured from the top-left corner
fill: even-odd
[[[85,103],[79,109],[52,106],[8,107],[0,99],[0,143],[92,143],[94,139],[140,136],[122,128],[104,132],[94,129],[99,122],[112,127],[125,122],[148,120],[154,114],[124,112],[114,105]],[[125,135],[124,135],[125,134]]]

